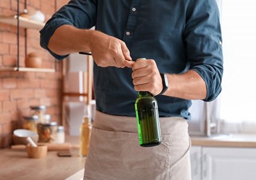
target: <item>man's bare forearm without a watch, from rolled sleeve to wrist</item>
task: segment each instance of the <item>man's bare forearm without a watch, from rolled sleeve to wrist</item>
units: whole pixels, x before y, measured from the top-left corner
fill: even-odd
[[[89,48],[91,32],[92,30],[77,29],[70,25],[60,26],[51,36],[48,48],[59,55],[91,51]]]

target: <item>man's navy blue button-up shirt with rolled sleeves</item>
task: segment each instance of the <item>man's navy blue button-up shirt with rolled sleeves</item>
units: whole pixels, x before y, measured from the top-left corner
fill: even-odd
[[[72,0],[41,30],[41,46],[61,25],[97,30],[122,39],[132,59],[154,59],[159,72],[182,74],[193,69],[207,86],[205,101],[221,92],[222,38],[215,0]],[[85,39],[86,41],[86,39]],[[50,51],[50,50],[49,50]],[[59,56],[50,53],[57,59]],[[101,68],[94,63],[97,109],[135,117],[130,68]],[[191,100],[156,96],[161,117],[189,118]]]

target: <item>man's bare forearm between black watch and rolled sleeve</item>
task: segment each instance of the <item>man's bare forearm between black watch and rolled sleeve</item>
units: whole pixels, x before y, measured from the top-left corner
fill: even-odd
[[[165,96],[179,97],[182,99],[205,99],[207,90],[203,78],[189,70],[184,74],[168,74],[169,88]]]

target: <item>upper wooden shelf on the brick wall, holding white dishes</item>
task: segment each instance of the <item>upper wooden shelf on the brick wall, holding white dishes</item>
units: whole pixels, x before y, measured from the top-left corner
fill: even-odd
[[[0,22],[8,25],[17,26],[17,15],[14,16],[0,16]],[[19,16],[20,28],[30,29],[41,29],[45,23],[40,23],[35,20],[26,19],[25,17]]]

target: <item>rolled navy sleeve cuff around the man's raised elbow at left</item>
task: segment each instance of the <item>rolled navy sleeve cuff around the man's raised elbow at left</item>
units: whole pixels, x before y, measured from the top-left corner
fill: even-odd
[[[44,26],[44,28],[40,30],[40,34],[41,34],[40,35],[40,45],[41,45],[41,47],[43,47],[47,51],[49,51],[49,53],[52,54],[52,56],[58,60],[62,60],[64,58],[68,57],[69,54],[61,56],[56,53],[53,53],[53,51],[51,51],[48,48],[48,43],[50,41],[51,36],[55,32],[55,30],[57,28],[59,28],[59,26],[62,26],[62,25],[73,26],[73,24],[71,22],[69,22],[67,19],[53,19],[53,20],[50,20],[49,22],[47,22],[46,25]]]

